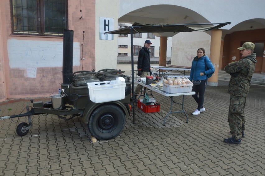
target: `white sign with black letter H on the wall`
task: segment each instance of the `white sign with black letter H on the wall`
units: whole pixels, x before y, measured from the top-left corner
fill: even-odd
[[[112,31],[114,29],[113,18],[100,17],[100,40],[113,40],[114,34],[104,34],[105,32]]]

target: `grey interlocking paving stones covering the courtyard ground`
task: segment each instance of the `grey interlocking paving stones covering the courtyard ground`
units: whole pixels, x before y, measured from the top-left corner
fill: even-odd
[[[265,87],[251,86],[245,108],[246,131],[242,144],[226,144],[228,82],[207,87],[206,112],[193,116],[196,102],[185,96],[184,113],[169,115],[170,98],[153,93],[160,112],[135,108],[115,139],[92,142],[79,118],[65,121],[56,115],[35,115],[23,137],[16,126],[27,117],[0,120],[0,176],[11,175],[265,175]],[[181,97],[174,97],[175,102]],[[36,99],[47,101],[49,99]],[[29,99],[0,103],[0,116],[20,114]],[[181,109],[174,104],[174,110]],[[23,113],[25,110],[23,111]]]

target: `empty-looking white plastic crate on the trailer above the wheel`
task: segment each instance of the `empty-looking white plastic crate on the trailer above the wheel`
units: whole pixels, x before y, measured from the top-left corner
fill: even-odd
[[[116,80],[87,83],[87,86],[89,98],[95,103],[122,100],[125,97],[126,83],[116,83]]]

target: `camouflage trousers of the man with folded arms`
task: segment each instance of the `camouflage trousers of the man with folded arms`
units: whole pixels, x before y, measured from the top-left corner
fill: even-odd
[[[245,106],[246,97],[230,95],[228,122],[232,137],[236,140],[240,139],[241,133],[245,130]]]

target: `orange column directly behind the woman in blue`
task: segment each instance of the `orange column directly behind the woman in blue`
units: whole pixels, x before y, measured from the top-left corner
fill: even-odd
[[[211,35],[211,49],[210,49],[210,59],[215,68],[214,74],[208,79],[209,86],[218,85],[218,71],[219,71],[219,60],[221,51],[221,40],[222,40],[222,30],[214,29]]]

